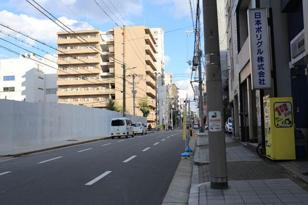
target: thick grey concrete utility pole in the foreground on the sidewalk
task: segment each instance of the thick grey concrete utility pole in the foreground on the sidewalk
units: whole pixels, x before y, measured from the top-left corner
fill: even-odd
[[[224,127],[221,121],[224,117],[222,110],[222,85],[216,0],[203,0],[203,25],[204,53],[209,56],[209,61],[206,61],[205,63],[207,111],[208,113],[211,111],[218,114],[219,112],[221,113],[221,116],[218,117],[216,114],[213,116],[208,114],[210,187],[212,189],[224,189],[228,187],[228,181]],[[215,128],[211,131],[211,117],[216,117],[216,120],[220,117],[220,131]],[[217,125],[219,125],[219,123]]]

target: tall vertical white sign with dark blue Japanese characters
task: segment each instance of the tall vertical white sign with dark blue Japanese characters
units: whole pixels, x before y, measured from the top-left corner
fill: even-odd
[[[266,9],[248,9],[252,89],[271,88],[271,64]]]

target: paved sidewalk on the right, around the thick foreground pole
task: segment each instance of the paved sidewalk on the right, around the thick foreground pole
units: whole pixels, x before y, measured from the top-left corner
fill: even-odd
[[[198,135],[188,205],[308,204],[307,161],[261,159],[239,141],[225,139],[228,188],[210,189],[207,132]]]

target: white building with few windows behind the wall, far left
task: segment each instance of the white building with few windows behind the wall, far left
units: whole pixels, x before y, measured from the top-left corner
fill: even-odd
[[[50,55],[46,58],[26,53],[17,58],[1,59],[0,98],[30,103],[56,102],[56,57]]]

